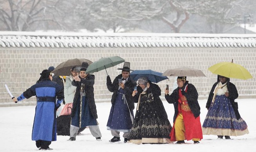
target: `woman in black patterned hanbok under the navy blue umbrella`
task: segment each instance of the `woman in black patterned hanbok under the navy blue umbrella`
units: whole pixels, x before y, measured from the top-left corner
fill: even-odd
[[[138,104],[129,143],[170,143],[172,127],[159,97],[161,89],[146,78],[140,78],[137,90],[132,94]]]

